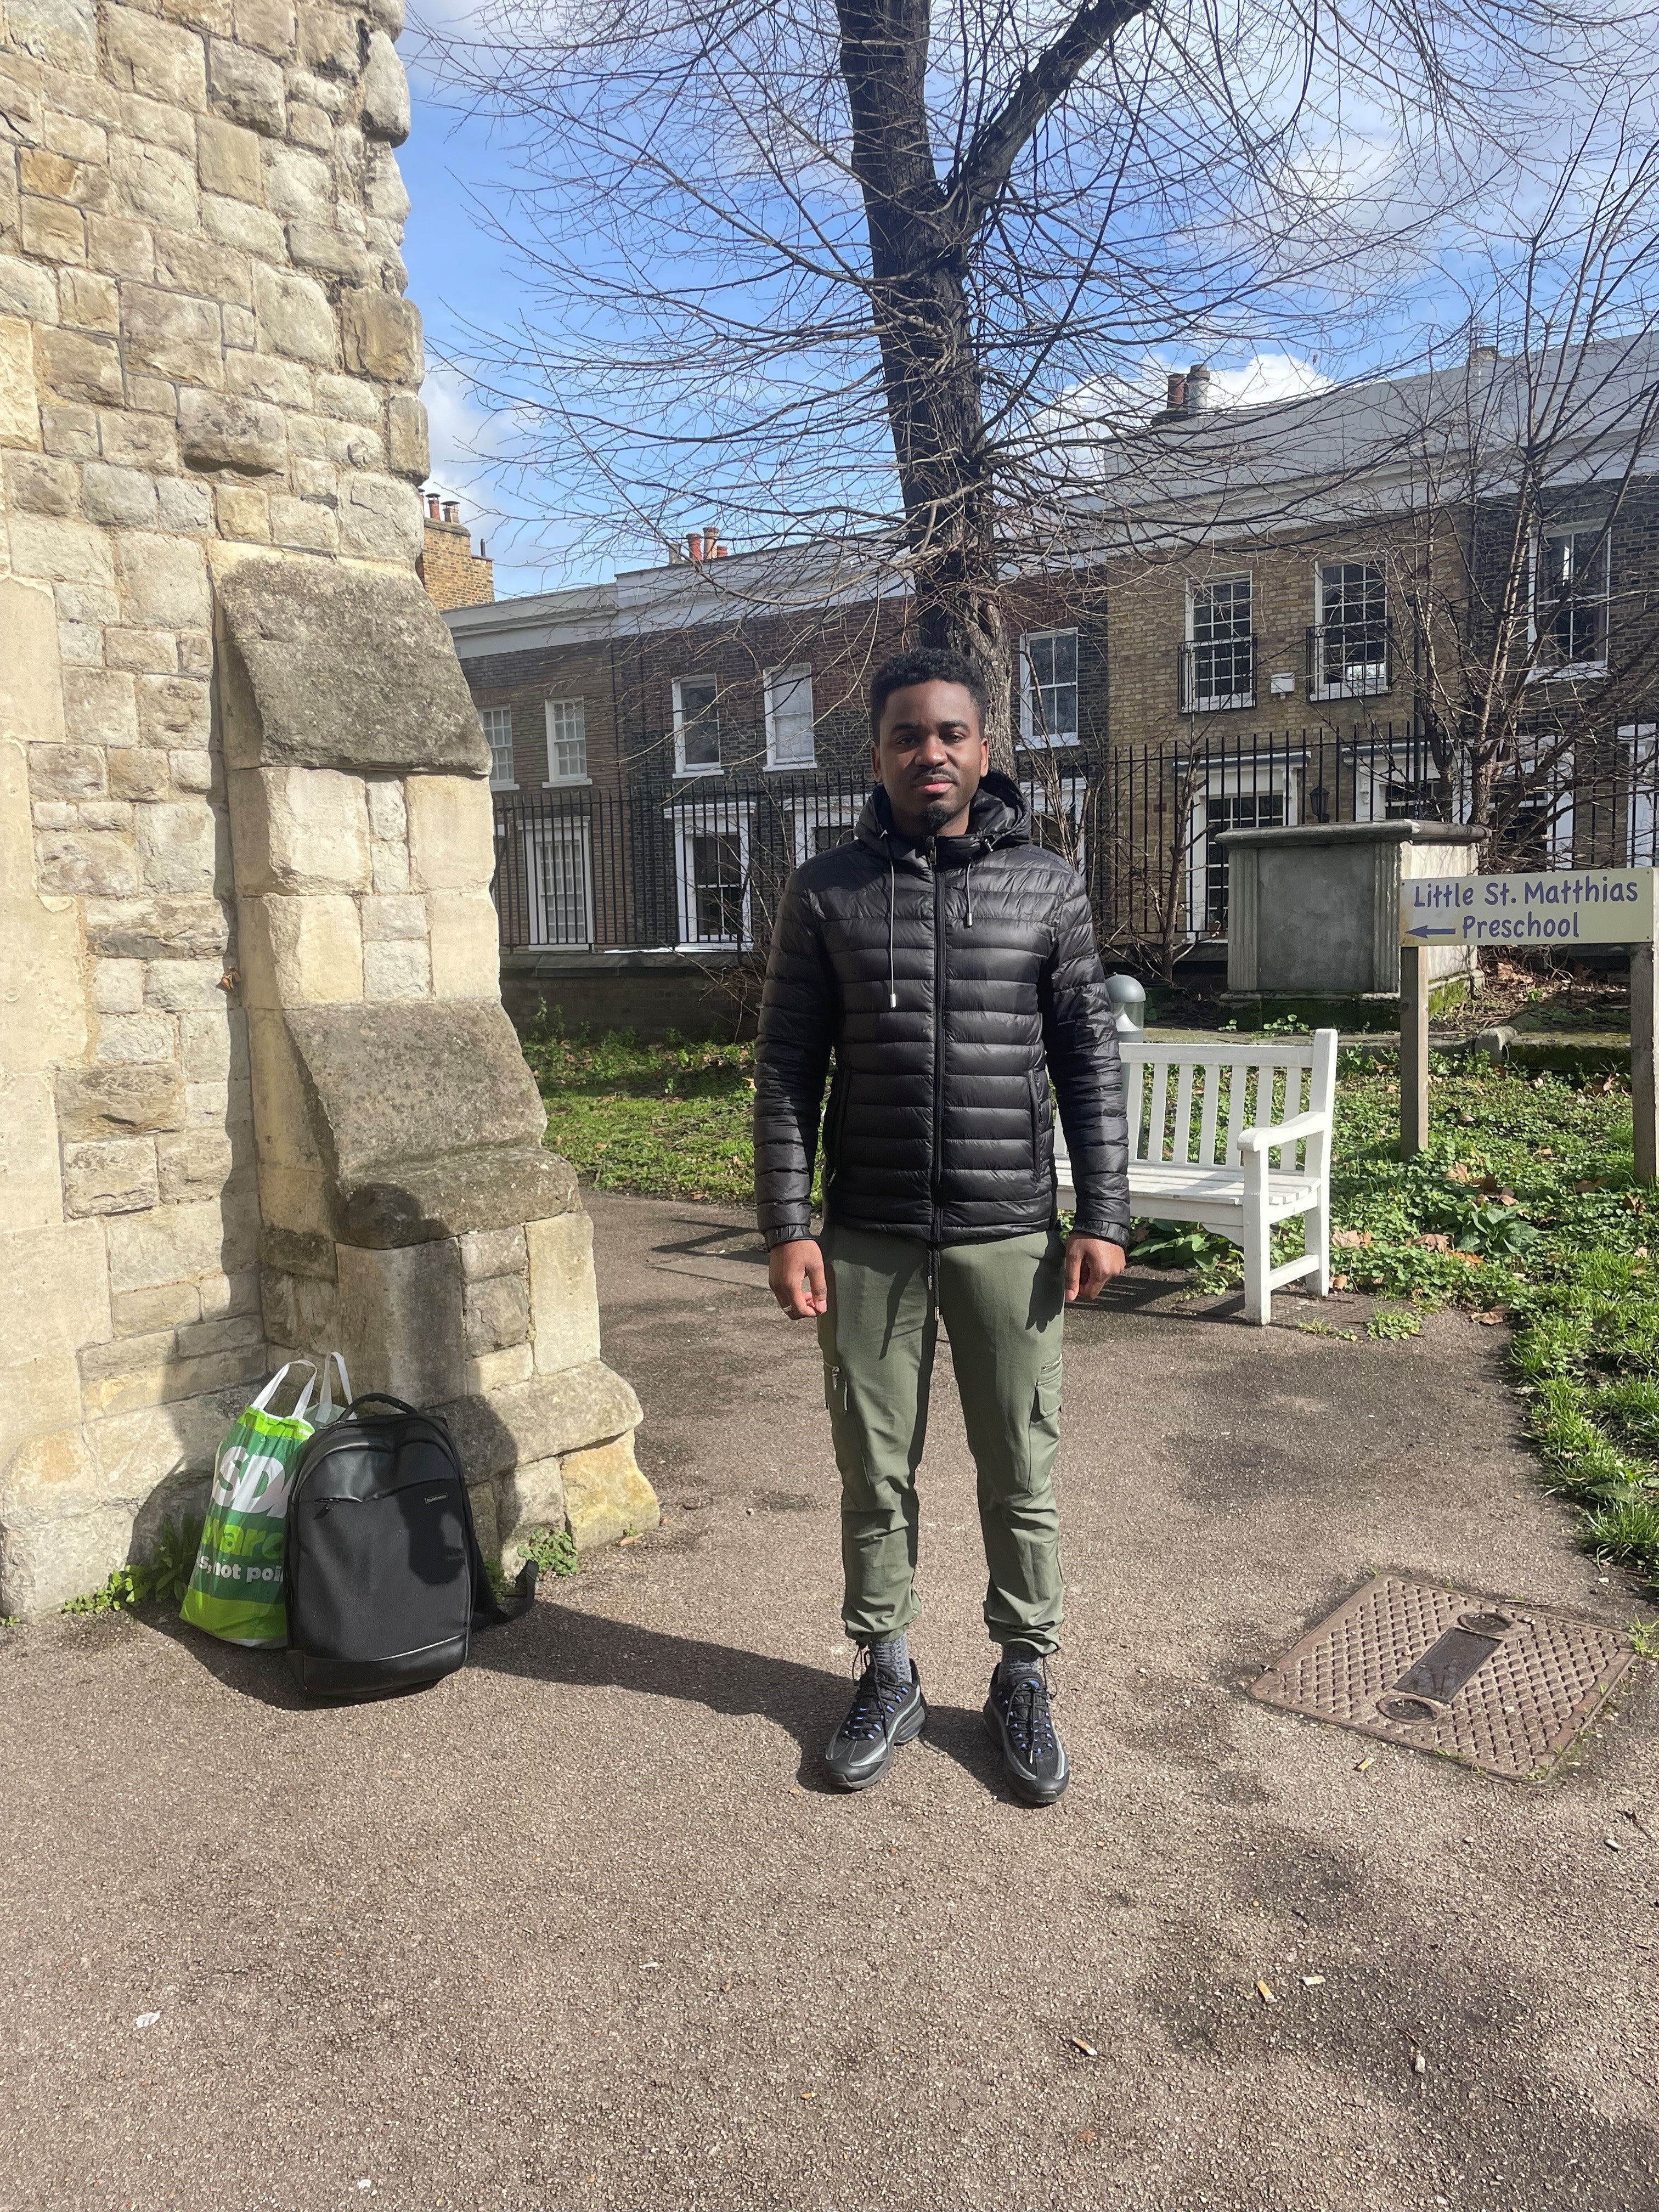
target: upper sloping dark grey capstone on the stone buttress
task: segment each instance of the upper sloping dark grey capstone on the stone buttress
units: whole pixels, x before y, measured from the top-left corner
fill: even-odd
[[[250,557],[223,575],[219,604],[246,672],[246,699],[228,701],[232,765],[489,774],[449,630],[411,575]]]

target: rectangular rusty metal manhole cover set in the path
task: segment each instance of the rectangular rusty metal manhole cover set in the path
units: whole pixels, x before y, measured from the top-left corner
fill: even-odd
[[[1617,1628],[1385,1577],[1250,1694],[1524,1781],[1555,1765],[1632,1659]]]

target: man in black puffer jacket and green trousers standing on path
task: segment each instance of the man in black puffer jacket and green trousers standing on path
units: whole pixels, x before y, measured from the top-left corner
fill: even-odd
[[[841,1469],[841,1617],[858,1686],[825,1759],[867,1790],[927,1705],[916,1469],[938,1316],[978,1469],[1002,1648],[984,1721],[1013,1790],[1051,1805],[1068,1765],[1048,1708],[1060,1650],[1064,1307],[1124,1265],[1117,1035],[1084,887],[1031,843],[989,772],[984,686],[962,655],[900,653],[869,690],[876,790],[849,845],[796,869],[772,936],[754,1073],[759,1217],[779,1305],[816,1316]],[[810,1223],[818,1108],[823,1243]],[[1055,1223],[1060,1097],[1077,1221]]]

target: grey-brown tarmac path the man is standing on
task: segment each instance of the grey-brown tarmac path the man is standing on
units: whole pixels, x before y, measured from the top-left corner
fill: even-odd
[[[1155,1279],[1075,1318],[1048,1814],[980,1734],[940,1387],[931,1736],[847,1801],[812,1338],[743,1263],[650,1263],[717,1217],[593,1212],[666,1526],[462,1677],[310,1712],[159,1621],[0,1637],[7,2212],[1659,2205],[1646,1686],[1546,1787],[1360,1774],[1239,1690],[1374,1566],[1632,1615],[1493,1332],[1256,1334]]]

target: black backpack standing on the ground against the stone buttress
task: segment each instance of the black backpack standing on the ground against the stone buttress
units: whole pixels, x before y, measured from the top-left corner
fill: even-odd
[[[365,1407],[392,1407],[367,1413]],[[449,1429],[369,1391],[305,1447],[288,1504],[288,1666],[307,1697],[374,1697],[467,1663],[473,1621],[511,1621],[473,1531]]]

